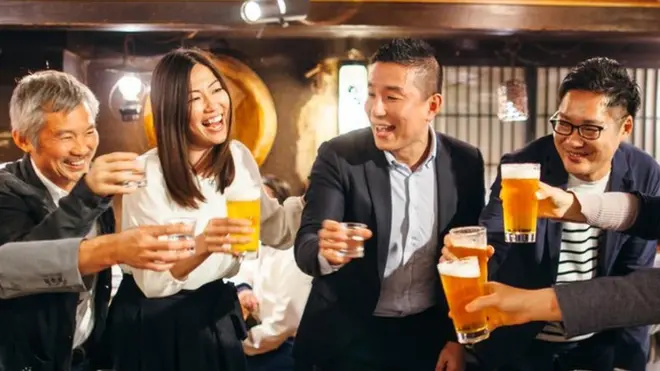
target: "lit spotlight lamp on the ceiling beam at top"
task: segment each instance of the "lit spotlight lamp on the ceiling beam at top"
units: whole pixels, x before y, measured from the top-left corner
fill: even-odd
[[[279,23],[307,18],[309,0],[247,0],[241,5],[241,18],[246,23]]]

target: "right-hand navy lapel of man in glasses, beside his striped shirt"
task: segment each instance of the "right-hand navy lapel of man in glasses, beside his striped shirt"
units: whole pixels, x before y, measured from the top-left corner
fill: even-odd
[[[630,192],[633,189],[632,179],[629,177],[628,162],[625,155],[621,150],[614,152],[612,159],[612,172],[610,173],[610,181],[608,191],[611,192]],[[599,241],[598,251],[598,275],[604,276],[608,271],[609,266],[614,261],[618,253],[617,246],[621,235],[616,231],[605,231],[603,237]]]

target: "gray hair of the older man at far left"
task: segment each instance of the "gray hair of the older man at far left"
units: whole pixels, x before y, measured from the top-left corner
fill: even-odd
[[[70,113],[80,105],[87,110],[90,123],[95,123],[99,101],[85,84],[60,71],[35,72],[23,77],[11,95],[11,128],[38,145],[47,113]]]

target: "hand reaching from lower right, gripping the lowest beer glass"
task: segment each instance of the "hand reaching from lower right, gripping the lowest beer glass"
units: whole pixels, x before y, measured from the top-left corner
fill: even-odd
[[[487,282],[481,296],[470,302],[468,312],[487,310],[488,327],[519,325],[531,321],[561,321],[557,296],[552,288],[524,290],[498,282]]]

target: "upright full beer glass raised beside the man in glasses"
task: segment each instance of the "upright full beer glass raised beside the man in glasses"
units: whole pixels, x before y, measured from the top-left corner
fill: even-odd
[[[539,211],[536,192],[539,190],[541,165],[502,164],[501,172],[504,240],[508,243],[534,243]]]

